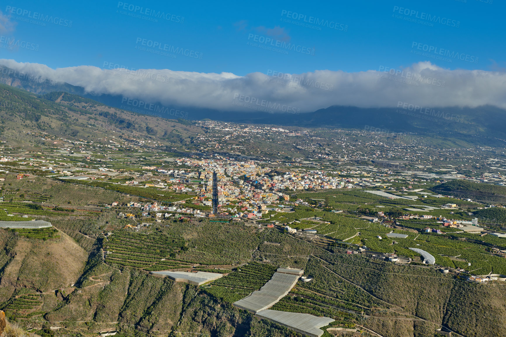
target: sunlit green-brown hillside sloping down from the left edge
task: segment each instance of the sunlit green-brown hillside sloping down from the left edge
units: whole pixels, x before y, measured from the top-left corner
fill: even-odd
[[[50,139],[30,136],[36,133],[83,141],[136,135],[162,146],[181,146],[204,132],[187,120],[111,108],[65,92],[36,95],[7,85],[0,85],[0,122],[0,139],[11,146],[52,146]]]

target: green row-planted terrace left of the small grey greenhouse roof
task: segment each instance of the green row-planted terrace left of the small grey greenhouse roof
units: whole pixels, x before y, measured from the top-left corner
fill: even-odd
[[[104,240],[103,249],[108,264],[158,271],[190,267],[176,259],[177,252],[187,249],[185,244],[183,238],[166,233],[115,231]]]

